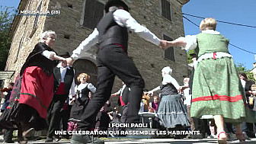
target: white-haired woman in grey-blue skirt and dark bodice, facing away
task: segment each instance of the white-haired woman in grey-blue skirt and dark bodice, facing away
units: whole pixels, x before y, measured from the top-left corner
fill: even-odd
[[[152,95],[154,91],[161,90],[162,99],[157,112],[160,125],[165,126],[165,128],[187,128],[190,126],[187,110],[181,101],[181,94],[178,94],[181,86],[171,77],[171,72],[172,69],[169,66],[162,69],[161,85],[146,92],[146,94]]]

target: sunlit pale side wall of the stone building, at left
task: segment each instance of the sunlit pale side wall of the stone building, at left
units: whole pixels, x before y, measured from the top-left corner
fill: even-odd
[[[20,10],[37,10],[40,5],[41,0],[21,0],[19,9],[21,6],[24,9]],[[49,0],[43,0],[41,11],[46,11],[48,9]],[[18,18],[20,17],[20,18]],[[39,16],[37,27],[33,29],[34,21],[36,16],[16,16],[14,18],[17,23],[12,25],[12,43],[8,55],[8,60],[6,62],[5,70],[15,71],[12,81],[20,72],[28,54],[34,49],[34,46],[40,41],[40,34],[43,33],[43,27],[45,24],[46,16]],[[16,24],[16,25],[14,25]],[[5,82],[6,83],[6,82]]]

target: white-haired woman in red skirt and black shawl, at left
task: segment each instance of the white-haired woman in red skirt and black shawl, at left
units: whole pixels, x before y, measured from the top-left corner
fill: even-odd
[[[66,62],[54,52],[55,40],[54,31],[44,32],[21,68],[20,100],[12,115],[21,123],[24,136],[31,130],[47,128],[47,108],[53,99],[53,68],[56,60]]]

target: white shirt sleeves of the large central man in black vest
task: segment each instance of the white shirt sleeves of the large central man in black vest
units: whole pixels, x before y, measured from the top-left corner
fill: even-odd
[[[140,25],[129,12],[124,11],[123,9],[118,9],[114,11],[114,21],[121,27],[127,27],[128,30],[131,30],[137,34],[139,37],[142,37],[145,40],[148,40],[155,45],[160,44],[160,39],[152,34],[146,27]],[[94,29],[92,34],[90,34],[80,45],[73,51],[72,58],[79,59],[82,56],[86,56],[85,52],[88,51],[91,46],[98,42],[99,32],[97,28]]]

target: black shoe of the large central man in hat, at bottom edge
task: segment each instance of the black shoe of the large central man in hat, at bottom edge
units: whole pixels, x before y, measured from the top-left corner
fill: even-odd
[[[73,135],[71,139],[71,143],[72,144],[86,144],[86,143],[104,144],[104,141],[94,136]]]

